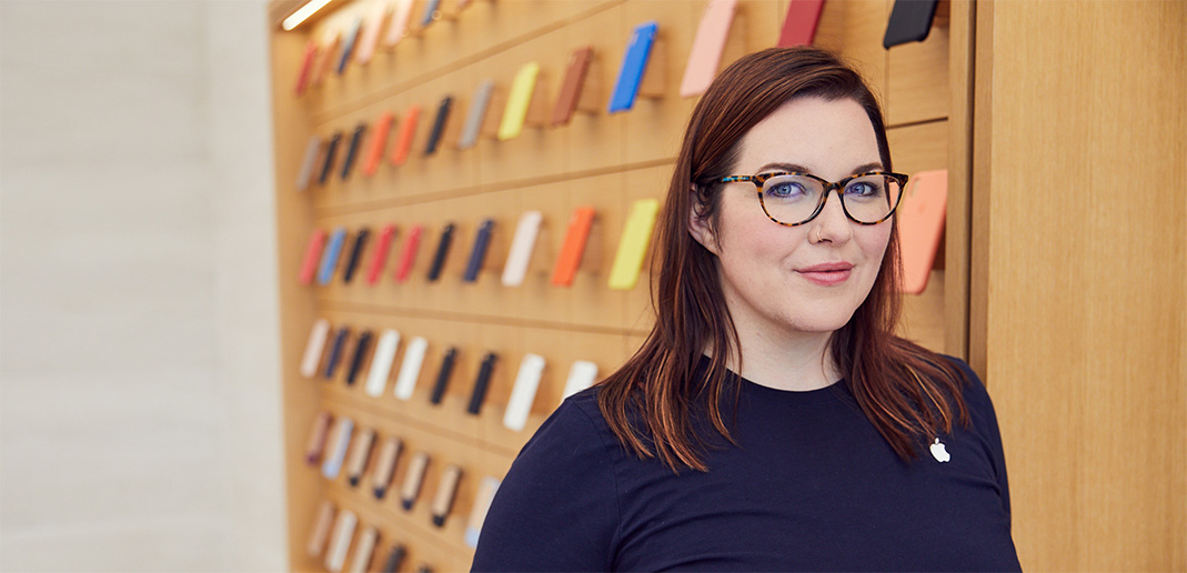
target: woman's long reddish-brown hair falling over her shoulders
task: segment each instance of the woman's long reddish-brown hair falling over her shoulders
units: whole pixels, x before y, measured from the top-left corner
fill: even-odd
[[[688,233],[690,212],[694,209],[716,230],[719,180],[731,174],[740,141],[780,106],[805,96],[859,103],[874,126],[883,167],[891,170],[877,100],[856,71],[824,50],[748,55],[726,68],[697,103],[656,225],[655,326],[635,355],[601,382],[598,395],[622,444],[641,458],[658,456],[673,471],[707,471],[700,456],[706,440],[694,429],[693,416],[707,419],[732,441],[719,403],[726,377],[737,376],[726,370],[728,356],[742,363],[716,255]],[[901,306],[897,235],[895,225],[869,297],[830,344],[858,406],[901,458],[913,459],[922,441],[952,429],[957,414],[967,424],[960,399],[967,378],[951,361],[894,335]],[[706,348],[713,349],[712,357],[698,376]],[[740,384],[732,386],[736,403]]]

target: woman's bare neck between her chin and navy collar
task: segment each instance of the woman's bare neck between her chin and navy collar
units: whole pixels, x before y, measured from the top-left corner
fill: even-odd
[[[743,378],[777,390],[808,391],[840,380],[832,359],[832,332],[780,332],[772,336],[738,329],[742,367],[728,356],[729,369]],[[712,355],[712,349],[706,350]]]

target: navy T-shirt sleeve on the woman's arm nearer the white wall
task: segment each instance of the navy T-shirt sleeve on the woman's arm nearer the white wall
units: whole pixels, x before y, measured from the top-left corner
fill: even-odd
[[[577,403],[589,397],[566,400],[515,458],[487,512],[472,571],[610,571],[617,486],[605,432]]]

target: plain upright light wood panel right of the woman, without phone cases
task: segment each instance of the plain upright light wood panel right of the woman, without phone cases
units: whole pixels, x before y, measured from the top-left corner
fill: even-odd
[[[979,2],[978,23],[971,346],[1022,565],[1183,571],[1187,196],[1160,183],[1187,171],[1187,5]]]

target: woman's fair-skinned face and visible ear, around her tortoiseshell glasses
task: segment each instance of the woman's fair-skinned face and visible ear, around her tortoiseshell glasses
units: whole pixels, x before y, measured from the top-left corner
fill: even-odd
[[[801,97],[745,134],[731,174],[798,171],[837,182],[882,167],[874,127],[857,102]],[[716,236],[696,217],[691,231],[718,255],[738,330],[782,337],[844,326],[874,286],[891,221],[853,223],[833,191],[815,218],[783,227],[767,218],[753,183],[726,183],[721,193]]]

